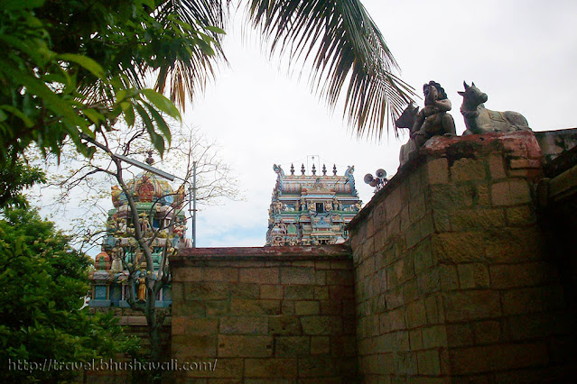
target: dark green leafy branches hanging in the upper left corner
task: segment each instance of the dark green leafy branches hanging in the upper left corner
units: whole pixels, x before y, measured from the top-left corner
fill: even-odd
[[[0,7],[0,165],[32,143],[60,155],[70,138],[90,156],[80,133],[94,138],[121,118],[139,114],[161,154],[171,134],[163,114],[180,118],[166,97],[144,88],[147,73],[157,87],[172,69],[210,70],[215,29],[161,17],[164,1],[8,1]],[[169,2],[171,3],[171,2]],[[159,19],[158,21],[156,19]],[[162,80],[162,81],[161,81]]]

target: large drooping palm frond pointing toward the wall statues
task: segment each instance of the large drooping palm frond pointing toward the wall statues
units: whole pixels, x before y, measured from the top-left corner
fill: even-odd
[[[415,96],[358,0],[251,0],[249,17],[271,54],[287,54],[291,65],[312,61],[312,87],[330,106],[348,82],[343,114],[359,136],[380,137]]]

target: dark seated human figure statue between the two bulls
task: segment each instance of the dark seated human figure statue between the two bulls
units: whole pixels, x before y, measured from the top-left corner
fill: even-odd
[[[456,135],[455,122],[451,114],[451,101],[445,90],[435,81],[423,85],[424,108],[416,114],[411,137],[416,148],[437,135]]]

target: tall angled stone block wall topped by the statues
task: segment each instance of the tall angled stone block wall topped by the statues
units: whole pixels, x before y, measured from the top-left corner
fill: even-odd
[[[542,160],[533,133],[433,138],[349,224],[363,381],[571,377]]]

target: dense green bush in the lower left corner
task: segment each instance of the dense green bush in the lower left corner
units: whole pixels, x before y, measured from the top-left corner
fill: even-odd
[[[91,261],[68,242],[35,211],[7,210],[0,221],[0,381],[74,374],[8,370],[8,361],[91,361],[134,344],[113,313],[89,315],[88,307],[81,309]]]

